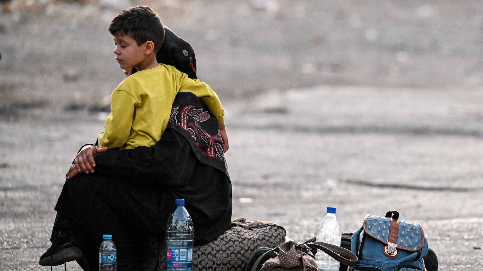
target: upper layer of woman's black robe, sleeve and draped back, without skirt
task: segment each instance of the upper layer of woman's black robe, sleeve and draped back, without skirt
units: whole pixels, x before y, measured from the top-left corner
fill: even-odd
[[[206,244],[230,227],[231,182],[219,169],[199,161],[188,139],[168,127],[154,147],[110,149],[95,156],[96,172],[119,176],[161,196],[162,227],[176,205],[185,207],[194,224],[195,245]],[[87,176],[88,174],[86,174]],[[160,233],[164,238],[164,230]]]

